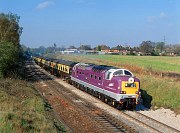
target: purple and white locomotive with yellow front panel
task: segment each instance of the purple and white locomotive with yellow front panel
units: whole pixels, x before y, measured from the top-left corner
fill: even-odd
[[[71,81],[118,108],[135,108],[139,100],[140,80],[127,69],[78,63],[72,69]]]

